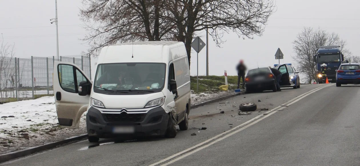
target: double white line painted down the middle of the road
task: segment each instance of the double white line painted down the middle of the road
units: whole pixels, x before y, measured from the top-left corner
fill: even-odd
[[[302,94],[300,96],[297,96],[296,98],[291,99],[290,101],[288,101],[288,102],[286,102],[286,103],[284,103],[282,105],[277,106],[274,109],[269,110],[268,112],[266,112],[264,114],[258,115],[257,117],[255,117],[255,118],[253,118],[253,119],[251,119],[251,120],[249,120],[249,121],[247,121],[247,122],[245,122],[243,124],[240,124],[237,127],[234,127],[231,130],[228,130],[228,131],[226,131],[224,133],[221,133],[221,134],[219,134],[219,135],[217,135],[215,137],[212,137],[212,138],[210,138],[210,139],[208,139],[208,140],[206,140],[204,142],[201,142],[201,143],[199,143],[199,144],[197,144],[197,145],[195,145],[193,147],[190,147],[190,148],[188,148],[188,149],[186,149],[184,151],[176,153],[175,155],[167,157],[167,158],[165,158],[165,159],[163,159],[163,160],[161,160],[159,162],[153,163],[150,166],[155,166],[155,165],[160,165],[160,164],[162,164],[163,166],[166,166],[166,165],[169,165],[169,164],[174,163],[176,161],[179,161],[179,160],[181,160],[181,159],[183,159],[183,158],[185,158],[187,156],[190,156],[190,155],[192,155],[192,154],[194,154],[194,153],[196,153],[198,151],[203,150],[204,148],[207,148],[207,147],[211,146],[212,144],[214,144],[216,142],[220,142],[221,140],[223,140],[225,138],[228,138],[228,137],[230,137],[230,136],[232,136],[232,135],[234,135],[234,134],[236,134],[236,133],[238,133],[240,131],[243,131],[244,129],[246,129],[246,128],[248,128],[248,127],[250,127],[250,126],[252,126],[252,125],[254,125],[254,124],[258,123],[258,122],[260,122],[262,119],[265,119],[265,118],[269,117],[270,115],[275,114],[279,110],[282,110],[282,109],[286,108],[287,106],[296,103],[297,101],[305,98],[306,96],[309,96],[312,93],[315,93],[316,91],[319,91],[321,89],[324,89],[325,87],[332,86],[332,85],[334,85],[334,84],[321,86],[321,87],[318,87],[318,88],[313,89],[311,91],[308,91],[308,92],[306,92],[306,93],[304,93],[304,94]]]

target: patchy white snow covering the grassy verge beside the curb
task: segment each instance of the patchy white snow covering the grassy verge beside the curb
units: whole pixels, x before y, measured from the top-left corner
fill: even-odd
[[[192,93],[191,104],[232,93]],[[85,114],[79,129],[68,129],[58,125],[54,96],[0,104],[0,154],[86,134]]]

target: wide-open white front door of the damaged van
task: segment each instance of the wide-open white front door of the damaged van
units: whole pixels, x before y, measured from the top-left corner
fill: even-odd
[[[86,81],[91,87],[92,82],[73,63],[55,61],[54,73],[54,95],[59,124],[61,127],[78,128],[81,115],[86,112],[90,100],[90,95],[78,94],[79,84]]]

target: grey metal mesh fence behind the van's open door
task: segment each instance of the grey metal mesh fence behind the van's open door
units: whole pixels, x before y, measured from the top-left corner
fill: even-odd
[[[75,63],[91,78],[89,56],[60,56],[59,61]],[[2,58],[0,60],[0,98],[34,98],[53,94],[55,57]]]

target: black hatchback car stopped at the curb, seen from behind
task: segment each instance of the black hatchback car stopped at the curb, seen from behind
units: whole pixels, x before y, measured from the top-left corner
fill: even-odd
[[[276,80],[269,67],[249,70],[245,77],[247,93],[272,90],[276,92]]]

